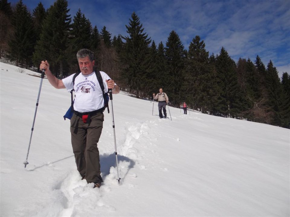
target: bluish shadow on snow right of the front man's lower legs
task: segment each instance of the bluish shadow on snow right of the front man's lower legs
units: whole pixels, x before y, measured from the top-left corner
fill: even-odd
[[[128,174],[129,170],[131,168],[134,167],[135,162],[133,160],[131,160],[128,157],[122,156],[122,155],[118,155],[118,166],[120,164],[120,161],[126,161],[129,162],[128,165],[128,170],[126,172],[126,174],[124,174],[124,177],[126,177],[126,175]],[[110,155],[100,155],[100,164],[101,164],[101,172],[103,173],[103,176],[107,176],[110,173],[110,168],[116,167],[116,155],[115,153],[112,153]],[[119,167],[120,169],[120,167]],[[123,178],[124,178],[123,177]]]

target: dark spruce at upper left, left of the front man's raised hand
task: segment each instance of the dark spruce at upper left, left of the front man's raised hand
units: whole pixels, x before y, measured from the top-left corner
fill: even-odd
[[[31,57],[36,39],[31,14],[23,5],[22,0],[16,5],[12,17],[12,26],[14,27],[14,34],[9,41],[10,58],[16,61],[17,66],[27,68],[31,66]]]

